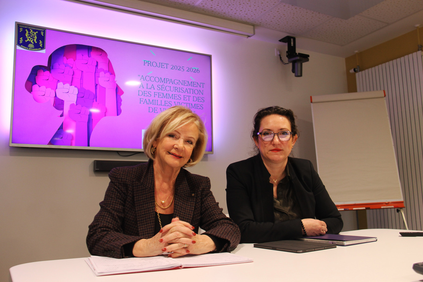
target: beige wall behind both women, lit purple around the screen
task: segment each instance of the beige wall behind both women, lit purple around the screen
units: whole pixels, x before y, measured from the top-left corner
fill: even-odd
[[[11,266],[37,260],[88,256],[85,235],[107,187],[93,160],[146,160],[142,154],[10,148],[8,146],[14,22],[201,52],[212,55],[214,154],[190,169],[211,179],[226,212],[225,169],[249,156],[251,120],[260,107],[280,105],[297,114],[295,156],[316,164],[310,95],[347,91],[345,60],[306,50],[303,77],[275,57],[280,45],[59,0],[0,4],[0,281]],[[48,15],[45,15],[46,9]],[[283,50],[285,52],[285,50]],[[345,229],[356,227],[343,214]]]

